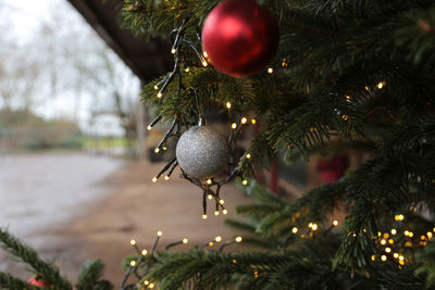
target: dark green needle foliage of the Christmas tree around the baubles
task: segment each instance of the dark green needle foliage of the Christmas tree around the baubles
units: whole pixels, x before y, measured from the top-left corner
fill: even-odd
[[[151,276],[163,279],[163,289],[186,283],[201,289],[222,282],[240,289],[312,289],[310,281],[318,282],[314,288],[324,289],[419,289],[426,277],[432,285],[432,260],[414,261],[420,249],[408,251],[409,261],[400,270],[395,261],[381,265],[371,255],[381,251],[378,231],[390,229],[395,214],[403,213],[409,226],[420,232],[432,220],[411,223],[417,218],[413,210],[435,213],[433,1],[259,2],[268,5],[279,22],[281,43],[271,64],[273,75],[263,72],[249,78],[231,78],[212,67],[200,67],[191,53],[182,50],[177,56],[181,83],[174,80],[161,99],[153,89],[159,80],[150,83],[144,98],[158,108],[158,113],[163,112],[165,119],[182,115],[185,124],[194,124],[199,114],[207,115],[211,109],[224,111],[227,101],[234,112],[256,116],[261,128],[247,148],[250,157],[246,153],[239,161],[243,176],[266,168],[277,153],[286,161],[307,161],[316,153],[365,152],[366,161],[339,182],[312,189],[293,203],[249,182],[246,191],[256,202],[237,207],[237,213],[248,219],[226,223],[249,232],[247,241],[271,251],[243,253],[240,259],[247,259],[247,267],[260,255],[268,264],[268,259],[275,259],[273,251],[290,247],[289,252],[278,252],[281,262],[275,266],[279,269],[253,279],[226,264],[234,253],[192,250],[186,254],[162,253],[160,266]],[[132,7],[135,3],[137,7]],[[163,36],[188,16],[185,36],[199,45],[194,31],[216,3],[126,1],[123,15],[135,31]],[[347,217],[343,232],[333,235],[327,219],[336,210]],[[324,244],[334,244],[327,255],[322,253],[322,269],[297,261],[304,253],[301,245],[307,239],[291,237],[289,229],[308,223],[316,223],[319,230],[327,234],[323,243],[316,243],[319,235],[310,237],[318,247],[310,251],[324,251]],[[287,268],[288,263],[295,267]],[[422,263],[424,267],[415,276],[413,272]],[[167,277],[170,268],[177,274]],[[293,278],[293,272],[306,279]],[[350,274],[357,277],[355,281],[348,279]]]

